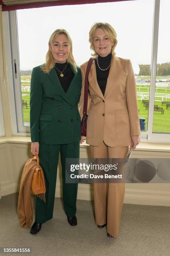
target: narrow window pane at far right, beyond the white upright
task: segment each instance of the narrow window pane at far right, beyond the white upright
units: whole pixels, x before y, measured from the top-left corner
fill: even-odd
[[[160,0],[153,132],[170,133],[170,1]],[[157,106],[157,107],[156,107]]]

